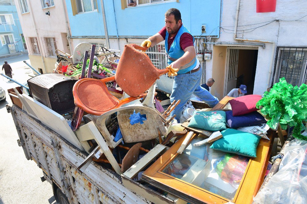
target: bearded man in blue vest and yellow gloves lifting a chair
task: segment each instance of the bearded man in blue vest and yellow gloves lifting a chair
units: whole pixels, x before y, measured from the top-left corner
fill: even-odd
[[[182,108],[193,93],[210,107],[215,106],[219,100],[200,86],[202,68],[196,58],[195,39],[191,32],[182,25],[181,13],[178,9],[172,8],[166,11],[165,26],[157,34],[145,40],[142,46],[153,47],[163,40],[165,40],[167,64],[172,71],[177,72],[170,99],[171,102],[181,100],[172,111],[171,116],[176,115],[175,119],[180,123]]]

